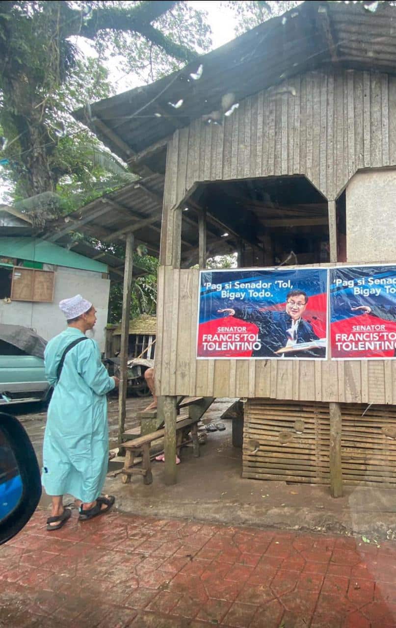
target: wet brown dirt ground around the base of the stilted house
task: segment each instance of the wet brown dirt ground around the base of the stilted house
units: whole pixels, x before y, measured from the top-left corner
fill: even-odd
[[[204,422],[219,421],[231,401],[216,399]],[[147,399],[128,399],[126,428],[138,425],[136,412],[147,404]],[[111,446],[116,444],[117,405],[116,399],[110,399]],[[14,409],[41,463],[46,415],[35,412],[35,408]],[[111,465],[105,490],[116,496],[118,511],[226,525],[365,535],[370,539],[396,538],[396,490],[346,487],[344,497],[333,499],[324,485],[243,479],[241,449],[232,445],[231,421],[224,423],[225,431],[207,435],[201,457],[194,458],[191,447],[182,449],[176,485],[165,485],[161,462],[153,462],[153,484],[149,486],[140,477],[123,484],[118,474],[120,465]],[[41,507],[47,506],[48,497],[43,495]]]

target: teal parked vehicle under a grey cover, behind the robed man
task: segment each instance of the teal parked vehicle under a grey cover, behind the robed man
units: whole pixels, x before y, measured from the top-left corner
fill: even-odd
[[[0,325],[0,406],[47,400],[46,344],[27,327]]]

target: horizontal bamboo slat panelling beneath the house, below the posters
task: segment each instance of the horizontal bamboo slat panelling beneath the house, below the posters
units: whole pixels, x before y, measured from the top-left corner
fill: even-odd
[[[394,406],[343,404],[344,484],[396,486]],[[303,421],[304,425],[296,424]],[[249,399],[245,405],[243,477],[329,484],[329,408],[325,403]],[[298,433],[301,431],[302,433]]]

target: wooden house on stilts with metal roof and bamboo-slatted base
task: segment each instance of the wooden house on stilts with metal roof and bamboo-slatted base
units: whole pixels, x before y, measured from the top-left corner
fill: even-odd
[[[375,281],[374,268],[396,264],[396,8],[373,4],[303,3],[91,106],[131,170],[165,178],[156,381],[168,483],[183,395],[246,399],[244,477],[334,496],[343,482],[396,483],[393,352],[336,359],[328,342],[325,359],[197,359],[192,268],[236,252],[238,271],[369,265]]]

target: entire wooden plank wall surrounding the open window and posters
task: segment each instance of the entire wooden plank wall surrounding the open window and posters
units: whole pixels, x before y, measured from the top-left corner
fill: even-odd
[[[199,274],[179,266],[180,203],[197,181],[302,174],[332,200],[358,168],[396,165],[396,77],[354,70],[310,72],[287,80],[277,91],[282,88],[287,93],[267,90],[243,100],[224,126],[194,121],[168,144],[158,392],[396,403],[392,360],[195,359]],[[332,237],[334,220],[329,226]]]

